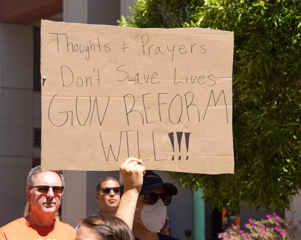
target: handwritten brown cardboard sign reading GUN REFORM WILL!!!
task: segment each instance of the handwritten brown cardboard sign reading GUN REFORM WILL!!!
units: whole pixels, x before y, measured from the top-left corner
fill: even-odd
[[[42,21],[42,166],[234,171],[233,33]]]

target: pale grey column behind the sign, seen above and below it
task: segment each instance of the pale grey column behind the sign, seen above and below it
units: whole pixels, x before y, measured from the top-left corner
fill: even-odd
[[[119,18],[120,0],[63,1],[64,22],[116,25]],[[66,191],[62,202],[62,220],[76,226],[79,217],[84,217],[91,211],[97,210],[97,202],[95,203],[94,199],[97,181],[101,177],[112,174],[109,172],[65,171]],[[116,177],[118,178],[118,175]]]

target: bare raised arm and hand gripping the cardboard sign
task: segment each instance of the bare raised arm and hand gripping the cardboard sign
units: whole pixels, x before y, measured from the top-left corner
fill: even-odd
[[[145,167],[141,166],[141,163],[142,160],[130,157],[119,168],[124,190],[116,216],[123,219],[130,229],[132,229],[136,203],[145,174]]]

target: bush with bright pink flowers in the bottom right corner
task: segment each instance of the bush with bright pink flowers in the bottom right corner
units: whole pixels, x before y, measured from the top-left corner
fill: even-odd
[[[218,238],[222,240],[297,240],[301,239],[300,232],[296,227],[292,226],[291,221],[286,222],[274,212],[273,215],[266,215],[266,219],[256,221],[252,218],[244,226],[247,231],[240,230],[236,225],[232,224],[225,232],[218,234]]]

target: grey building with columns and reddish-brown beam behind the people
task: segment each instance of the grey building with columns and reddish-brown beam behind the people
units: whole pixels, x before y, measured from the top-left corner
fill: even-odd
[[[41,159],[40,20],[116,25],[129,16],[133,0],[11,0],[0,2],[0,226],[19,218],[26,203],[26,176]],[[165,181],[173,181],[159,173]],[[94,194],[100,178],[118,171],[64,171],[66,190],[61,219],[77,225],[77,219],[98,211]],[[193,195],[181,189],[168,209],[171,233],[179,239],[193,239]],[[294,198],[286,212],[295,225],[301,219],[301,199]],[[241,206],[241,222],[264,217]],[[221,215],[202,210],[206,216],[200,231],[214,238],[216,219]],[[196,224],[196,223],[195,223]],[[195,238],[196,239],[196,238]]]

